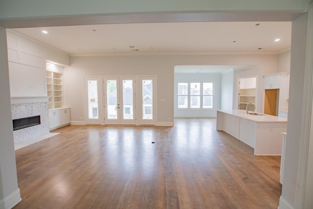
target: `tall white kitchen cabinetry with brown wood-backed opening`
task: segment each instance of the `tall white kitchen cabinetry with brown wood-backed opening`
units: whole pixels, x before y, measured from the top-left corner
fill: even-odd
[[[289,73],[280,72],[264,76],[264,113],[288,116]]]

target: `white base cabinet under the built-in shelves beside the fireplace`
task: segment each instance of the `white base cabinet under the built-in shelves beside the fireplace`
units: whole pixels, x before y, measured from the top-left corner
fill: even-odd
[[[49,110],[49,129],[53,130],[70,123],[70,108]]]

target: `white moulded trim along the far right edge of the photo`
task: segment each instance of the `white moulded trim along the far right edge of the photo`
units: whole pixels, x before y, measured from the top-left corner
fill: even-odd
[[[302,111],[299,163],[297,173],[296,209],[313,208],[313,2],[308,11],[305,56],[305,91]]]

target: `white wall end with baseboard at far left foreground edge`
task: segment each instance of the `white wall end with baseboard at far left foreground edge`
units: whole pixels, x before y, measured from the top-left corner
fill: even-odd
[[[18,187],[10,101],[6,30],[0,27],[0,209],[21,201]]]

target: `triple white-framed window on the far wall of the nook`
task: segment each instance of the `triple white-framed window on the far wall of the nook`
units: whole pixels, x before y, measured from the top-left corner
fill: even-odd
[[[177,104],[179,109],[213,108],[212,82],[178,83],[177,95]]]

